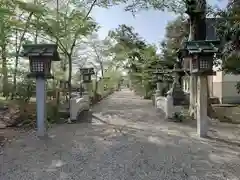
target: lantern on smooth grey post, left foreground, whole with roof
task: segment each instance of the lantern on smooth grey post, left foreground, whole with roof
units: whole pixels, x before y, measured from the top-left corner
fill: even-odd
[[[43,137],[46,134],[46,79],[51,75],[51,62],[60,61],[56,44],[25,44],[23,57],[29,58],[29,78],[36,78],[36,103],[37,103],[37,134]]]

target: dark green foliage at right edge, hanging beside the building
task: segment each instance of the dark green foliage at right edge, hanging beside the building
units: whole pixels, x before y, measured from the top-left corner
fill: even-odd
[[[240,74],[240,3],[229,1],[227,8],[217,13],[218,34],[223,46],[222,68],[227,73]]]

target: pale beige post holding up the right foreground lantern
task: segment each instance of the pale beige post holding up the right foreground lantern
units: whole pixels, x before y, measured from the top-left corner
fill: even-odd
[[[197,133],[206,137],[208,132],[207,116],[207,76],[199,76],[197,82]]]

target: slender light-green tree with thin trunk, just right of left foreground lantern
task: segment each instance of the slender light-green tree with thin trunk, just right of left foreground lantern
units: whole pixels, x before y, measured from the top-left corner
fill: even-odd
[[[55,13],[52,12],[50,16],[48,14],[38,19],[38,22],[35,23],[36,27],[43,27],[42,31],[45,34],[57,40],[60,50],[68,59],[69,92],[71,92],[72,55],[74,48],[81,38],[97,29],[96,22],[88,17],[92,9],[85,12],[83,8],[70,8],[70,6],[74,7],[74,4],[69,2],[68,6],[59,12],[58,19],[56,19]]]

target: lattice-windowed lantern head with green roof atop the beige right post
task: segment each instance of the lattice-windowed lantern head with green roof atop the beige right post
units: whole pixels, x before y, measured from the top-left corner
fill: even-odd
[[[191,57],[191,74],[195,75],[214,75],[213,58],[214,54],[219,53],[220,41],[187,41],[185,49],[187,53],[184,58]]]

